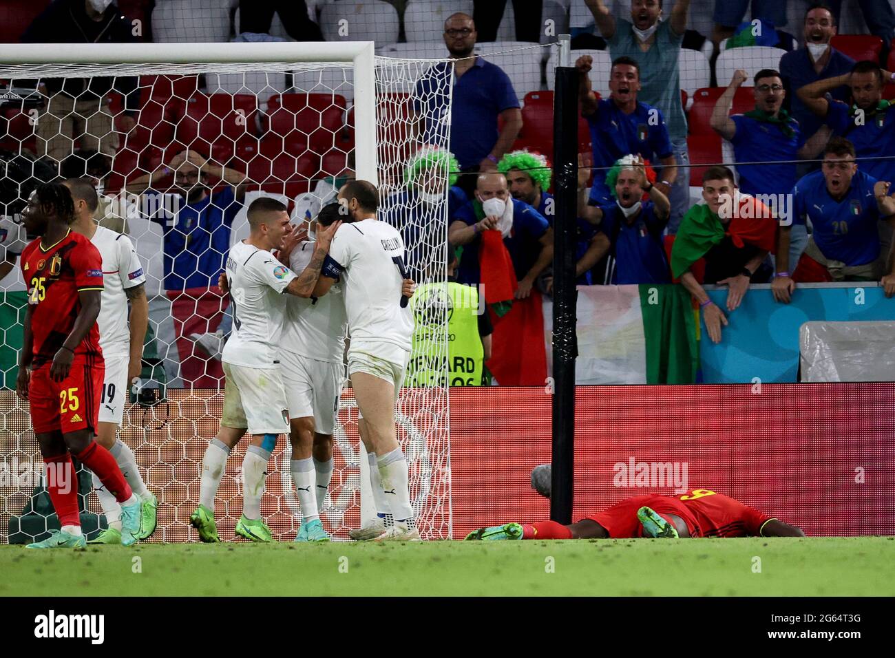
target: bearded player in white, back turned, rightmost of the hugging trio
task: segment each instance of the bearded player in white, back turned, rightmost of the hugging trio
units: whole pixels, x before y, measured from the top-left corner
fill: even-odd
[[[315,296],[339,281],[345,295],[348,374],[360,407],[362,439],[376,455],[394,524],[379,541],[418,541],[408,468],[397,440],[395,405],[410,360],[413,313],[405,295],[405,246],[396,228],[376,218],[379,192],[354,180],[339,191],[346,222],[333,238]]]

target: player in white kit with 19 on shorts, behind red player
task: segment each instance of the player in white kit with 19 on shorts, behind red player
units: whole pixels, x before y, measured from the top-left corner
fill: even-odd
[[[149,302],[143,285],[146,277],[131,239],[98,226],[93,219],[99,203],[93,183],[86,178],[71,178],[64,184],[74,201],[72,230],[89,238],[103,258],[103,292],[97,322],[106,376],[100,395],[97,441],[112,453],[124,479],[140,498],[141,528],[137,538],[146,539],[156,529],[158,502],[143,482],[133,450],[117,437],[124,419],[124,404],[142,367],[143,341],[149,325]],[[108,527],[89,543],[121,543],[121,506],[96,474],[93,489]]]

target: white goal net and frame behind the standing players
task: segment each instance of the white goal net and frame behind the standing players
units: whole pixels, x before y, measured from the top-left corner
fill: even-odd
[[[151,44],[134,47],[130,63],[115,61],[103,47],[67,48],[55,54],[70,63],[53,64],[23,59],[20,46],[0,47],[0,258],[14,263],[0,280],[0,542],[39,540],[57,527],[40,492],[42,460],[28,405],[14,389],[26,304],[17,254],[33,237],[25,235],[20,213],[37,184],[60,176],[87,177],[98,186],[95,218],[131,238],[146,273],[142,377],[125,406],[120,437],[158,496],[158,530],[150,541],[195,541],[189,517],[199,501],[202,455],[218,429],[220,348],[233,322],[217,277],[230,246],[248,235],[246,208],[271,196],[288,205],[294,222],[308,222],[345,180],[371,180],[379,186],[379,217],[404,235],[413,277],[445,285],[450,172],[439,158],[421,155],[447,148],[450,88],[419,81],[435,65],[447,67],[450,80],[452,64],[374,58],[371,44],[360,43]],[[439,130],[421,130],[420,122]],[[434,320],[430,313],[428,321],[439,330],[429,332],[427,354],[443,355],[439,367],[447,370],[447,310]],[[127,392],[104,387],[103,395],[110,394]],[[404,389],[397,419],[422,535],[447,538],[447,387]],[[242,512],[247,443],[234,449],[218,490],[223,541],[234,537]],[[362,484],[366,464],[347,386],[333,452],[320,517],[335,539],[347,539],[361,524],[362,508],[364,516],[371,513],[361,495],[369,486]],[[290,454],[281,437],[261,504],[280,541],[291,541],[301,521]],[[90,515],[101,511],[85,489],[89,483],[82,475],[87,531],[96,528]]]

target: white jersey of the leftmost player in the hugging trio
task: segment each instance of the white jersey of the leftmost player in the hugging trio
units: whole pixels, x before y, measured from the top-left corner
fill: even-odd
[[[233,332],[221,360],[247,368],[273,368],[286,315],[283,291],[294,272],[265,252],[244,242],[227,254],[226,278],[233,309]]]

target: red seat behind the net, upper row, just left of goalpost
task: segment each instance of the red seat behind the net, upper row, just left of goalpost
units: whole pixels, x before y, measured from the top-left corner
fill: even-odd
[[[283,138],[289,152],[309,149],[319,157],[345,132],[345,98],[328,94],[277,94],[268,99],[267,130]]]

